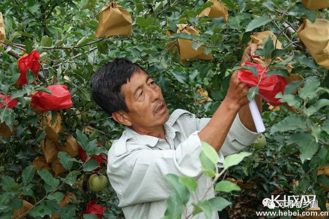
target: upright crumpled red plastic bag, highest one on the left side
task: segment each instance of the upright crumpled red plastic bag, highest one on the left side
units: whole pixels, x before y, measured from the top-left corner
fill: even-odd
[[[38,72],[40,69],[39,60],[40,55],[38,54],[38,51],[35,50],[29,55],[23,55],[21,58],[18,59],[18,70],[20,73],[20,76],[17,80],[19,84],[26,84],[26,70],[30,69],[35,77],[37,78]]]

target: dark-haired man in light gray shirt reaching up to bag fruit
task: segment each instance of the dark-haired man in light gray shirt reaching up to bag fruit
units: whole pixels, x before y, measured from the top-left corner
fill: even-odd
[[[247,47],[241,63],[250,61],[256,49],[256,44]],[[109,150],[107,167],[126,219],[164,216],[166,199],[172,193],[163,178],[167,173],[197,180],[198,197],[191,194],[184,218],[211,182],[201,170],[201,141],[215,148],[220,157],[218,166],[222,167],[224,156],[239,152],[258,137],[247,104],[250,87],[238,80],[237,72],[212,118],[195,118],[183,109],[176,109],[169,117],[161,88],[146,71],[125,58],[103,65],[93,75],[90,86],[94,101],[126,126]],[[256,102],[261,110],[259,96]],[[212,188],[206,199],[214,196]],[[206,217],[202,212],[193,218]],[[217,212],[212,218],[218,219]]]

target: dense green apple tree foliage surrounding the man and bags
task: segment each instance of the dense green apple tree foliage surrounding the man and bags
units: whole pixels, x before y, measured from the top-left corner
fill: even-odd
[[[123,218],[110,184],[102,192],[90,191],[86,185],[90,171],[83,169],[79,162],[72,161],[65,178],[55,179],[42,174],[42,170],[32,174],[32,161],[40,155],[40,151],[33,149],[38,147],[43,133],[37,114],[28,104],[33,90],[50,84],[68,86],[73,106],[59,111],[65,132],[90,150],[96,148],[96,142],[108,150],[124,127],[114,123],[111,116],[90,99],[89,81],[100,66],[114,57],[127,57],[142,65],[162,88],[169,113],[182,108],[199,118],[211,117],[226,95],[232,69],[238,66],[250,34],[265,30],[279,35],[288,54],[283,58],[290,58],[289,63],[294,67],[292,73],[305,78],[298,95],[286,96],[285,93],[283,96],[298,113],[282,105],[279,110],[268,110],[264,102],[266,145],[258,150],[246,147],[245,151],[251,155],[225,169],[217,179],[238,180],[236,183],[242,188],[242,191],[217,192],[232,203],[219,215],[222,218],[257,218],[254,212],[262,209],[261,200],[271,194],[315,194],[321,210],[326,210],[328,194],[319,183],[329,186],[329,178],[326,175],[317,177],[317,169],[329,165],[328,69],[316,64],[295,30],[304,18],[328,19],[328,9],[311,11],[295,0],[222,0],[229,10],[228,23],[224,24],[222,17],[196,17],[209,6],[205,1],[123,0],[119,4],[132,16],[132,35],[95,39],[99,12],[108,3],[99,0],[3,0],[0,4],[6,42],[22,44],[20,47],[27,53],[36,48],[44,68],[44,73],[40,70],[38,85],[24,85],[17,90],[13,85],[19,73],[14,65],[22,50],[8,45],[0,47],[1,92],[15,94],[19,100],[13,109],[0,108],[1,122],[6,120],[8,125],[18,126],[9,139],[0,139],[4,142],[0,148],[1,218],[11,218],[13,208],[22,206],[21,200],[37,206],[27,218],[49,218],[54,212],[60,213],[61,218],[82,217],[86,203],[95,198],[107,207],[104,218]],[[179,54],[168,52],[165,45],[177,37],[186,38],[165,35],[167,24],[175,28],[177,23],[200,30],[200,36],[191,37],[193,46],[207,46],[206,51],[211,50],[214,59],[181,63]],[[11,50],[16,51],[16,55]],[[64,76],[68,76],[69,81]],[[290,84],[291,89],[295,87],[301,87],[301,83]],[[196,104],[206,99],[199,97],[197,88],[207,90],[213,101]],[[86,131],[85,127],[91,131]],[[106,168],[100,173],[106,175]],[[49,185],[56,189],[58,197],[45,196],[51,192]],[[58,209],[57,203],[66,191],[74,193],[77,200],[63,210]]]

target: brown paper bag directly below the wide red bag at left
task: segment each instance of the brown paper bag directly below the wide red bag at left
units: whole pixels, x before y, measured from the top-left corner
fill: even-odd
[[[41,128],[45,127],[44,130],[46,132],[45,139],[52,140],[54,142],[61,142],[61,138],[57,136],[58,133],[64,133],[64,129],[62,127],[62,117],[59,113],[57,113],[57,118],[55,120],[55,123],[51,125],[51,114],[46,115],[46,118],[42,115],[42,122],[41,122]]]

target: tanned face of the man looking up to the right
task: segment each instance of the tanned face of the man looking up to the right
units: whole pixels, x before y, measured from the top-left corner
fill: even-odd
[[[121,87],[133,127],[163,125],[169,118],[161,88],[144,71],[134,73]],[[159,106],[162,105],[160,111]]]

